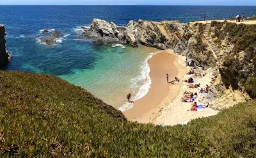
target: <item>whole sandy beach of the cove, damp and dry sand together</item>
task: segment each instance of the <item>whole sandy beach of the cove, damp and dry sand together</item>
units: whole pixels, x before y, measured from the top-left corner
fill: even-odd
[[[152,56],[148,61],[152,84],[145,97],[136,100],[131,109],[124,111],[128,120],[140,123],[154,123],[155,125],[186,124],[195,118],[216,115],[219,111],[206,107],[204,111],[190,111],[191,102],[181,102],[185,91],[197,92],[197,89],[188,88],[188,84],[180,81],[178,84],[166,83],[166,74],[169,80],[178,77],[187,79],[189,67],[186,67],[186,57],[174,54],[172,50],[164,50]],[[204,88],[211,81],[211,69],[206,70],[204,77],[196,78],[196,83]],[[198,97],[196,102],[202,97]],[[207,101],[209,102],[209,101]],[[211,102],[209,102],[211,103]],[[200,102],[198,102],[200,104]]]

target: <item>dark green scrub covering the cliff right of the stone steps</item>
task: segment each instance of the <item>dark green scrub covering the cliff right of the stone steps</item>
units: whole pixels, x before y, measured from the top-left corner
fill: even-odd
[[[251,79],[256,77],[256,25],[214,21],[211,26],[215,28],[214,35],[217,37],[214,43],[219,46],[221,40],[226,37],[228,42],[234,45],[230,54],[225,54],[225,71],[234,79],[235,84],[244,86],[251,97],[256,98],[255,93],[252,93],[256,85],[251,82]],[[250,81],[247,82],[249,78]]]

